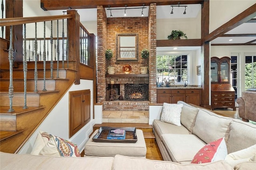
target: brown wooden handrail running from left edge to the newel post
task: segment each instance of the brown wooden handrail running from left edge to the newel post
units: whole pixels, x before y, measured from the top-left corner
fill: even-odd
[[[19,18],[4,18],[0,19],[0,26],[15,26],[20,24],[28,24],[34,22],[52,21],[72,18],[72,15],[56,15],[56,16],[34,16],[34,17],[19,17]]]

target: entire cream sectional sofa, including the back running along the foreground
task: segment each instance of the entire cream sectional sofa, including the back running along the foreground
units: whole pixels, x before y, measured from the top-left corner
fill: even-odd
[[[222,117],[183,104],[181,126],[153,121],[156,142],[164,161],[122,155],[91,157],[50,157],[0,152],[0,169],[10,170],[255,170],[256,125]],[[206,144],[225,139],[225,160],[191,164],[194,155]],[[224,140],[222,140],[224,141]],[[248,155],[250,158],[248,158]]]

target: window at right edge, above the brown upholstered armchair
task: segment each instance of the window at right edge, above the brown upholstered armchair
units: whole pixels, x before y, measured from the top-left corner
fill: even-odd
[[[245,56],[245,90],[256,87],[256,56]]]

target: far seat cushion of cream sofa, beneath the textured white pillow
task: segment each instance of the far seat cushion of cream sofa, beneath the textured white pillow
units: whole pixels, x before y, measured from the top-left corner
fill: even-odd
[[[170,123],[161,122],[157,119],[153,121],[154,132],[156,132],[160,137],[162,134],[191,134],[186,127],[172,125]],[[162,140],[162,138],[161,138]]]

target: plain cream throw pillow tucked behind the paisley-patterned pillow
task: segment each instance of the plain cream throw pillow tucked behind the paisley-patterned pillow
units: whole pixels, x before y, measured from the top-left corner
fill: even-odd
[[[42,148],[44,148],[44,146],[50,140],[51,137],[52,137],[51,134],[47,132],[39,131],[36,136],[36,140],[34,142],[34,145],[32,147],[32,151],[30,152],[30,154],[38,155],[39,152],[42,150]]]

